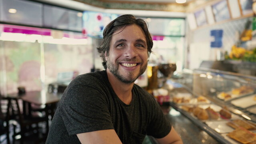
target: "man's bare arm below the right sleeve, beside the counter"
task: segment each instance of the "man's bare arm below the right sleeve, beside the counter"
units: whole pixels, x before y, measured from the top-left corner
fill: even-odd
[[[156,138],[159,144],[183,144],[179,134],[171,126],[171,131],[163,138]]]

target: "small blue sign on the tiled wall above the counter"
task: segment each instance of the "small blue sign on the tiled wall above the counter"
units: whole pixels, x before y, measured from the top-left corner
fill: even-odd
[[[211,36],[214,37],[214,42],[211,42],[211,48],[221,48],[223,30],[211,30]]]

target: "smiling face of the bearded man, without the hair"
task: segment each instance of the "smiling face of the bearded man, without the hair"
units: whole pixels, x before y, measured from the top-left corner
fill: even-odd
[[[110,42],[107,69],[121,82],[131,84],[147,68],[147,43],[143,30],[133,24],[117,30]]]

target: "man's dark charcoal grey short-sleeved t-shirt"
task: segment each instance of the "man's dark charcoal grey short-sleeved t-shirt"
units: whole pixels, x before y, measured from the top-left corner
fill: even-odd
[[[77,76],[58,104],[46,144],[80,144],[76,134],[108,129],[115,129],[123,144],[166,136],[171,124],[153,96],[136,84],[132,94],[131,103],[123,103],[105,70]]]

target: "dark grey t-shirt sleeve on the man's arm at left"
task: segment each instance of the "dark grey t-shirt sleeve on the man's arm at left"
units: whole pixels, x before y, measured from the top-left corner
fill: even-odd
[[[69,88],[60,111],[69,135],[114,129],[105,95],[94,87]]]

